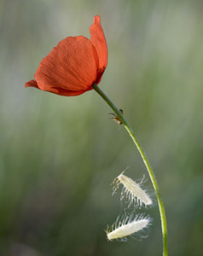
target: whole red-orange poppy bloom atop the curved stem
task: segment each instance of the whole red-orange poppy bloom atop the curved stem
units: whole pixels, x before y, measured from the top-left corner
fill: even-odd
[[[35,80],[26,87],[77,96],[99,84],[107,67],[107,43],[98,15],[90,26],[90,36],[90,40],[83,36],[63,39],[41,61]]]

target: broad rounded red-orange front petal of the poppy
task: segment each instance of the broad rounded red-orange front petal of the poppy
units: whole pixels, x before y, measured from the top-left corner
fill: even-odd
[[[96,81],[96,60],[90,40],[83,36],[62,40],[41,61],[35,79],[41,90],[56,94],[79,95],[90,90]]]

